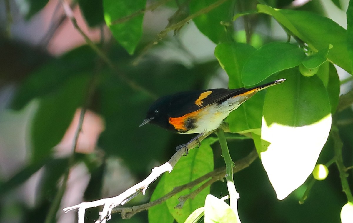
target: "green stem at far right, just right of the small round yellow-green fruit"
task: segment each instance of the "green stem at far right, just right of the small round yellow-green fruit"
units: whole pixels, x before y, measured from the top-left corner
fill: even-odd
[[[343,143],[340,138],[337,127],[333,126],[331,131],[332,131],[332,135],[333,135],[333,139],[334,139],[334,151],[335,151],[336,165],[337,165],[337,168],[340,172],[342,190],[343,190],[343,192],[345,192],[348,202],[352,202],[353,196],[352,196],[352,192],[351,192],[351,189],[349,188],[349,184],[348,184],[348,180],[347,180],[346,167],[343,164],[343,157],[342,157]]]

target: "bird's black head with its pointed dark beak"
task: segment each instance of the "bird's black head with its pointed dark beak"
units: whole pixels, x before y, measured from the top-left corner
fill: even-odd
[[[164,96],[155,101],[147,111],[145,120],[140,126],[148,122],[158,125],[162,128],[169,129],[168,108],[170,106],[171,96]]]

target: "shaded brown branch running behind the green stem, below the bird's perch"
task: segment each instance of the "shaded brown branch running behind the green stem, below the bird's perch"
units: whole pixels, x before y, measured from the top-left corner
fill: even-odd
[[[251,151],[249,153],[249,155],[247,155],[246,157],[235,162],[236,168],[235,167],[233,168],[233,173],[237,173],[238,171],[243,170],[246,167],[249,167],[249,165],[253,161],[255,161],[255,159],[257,159],[257,158],[258,158],[258,154],[257,154],[256,150],[254,149],[253,151]],[[175,194],[177,194],[181,191],[184,191],[185,189],[190,189],[190,188],[195,187],[196,185],[209,179],[210,177],[211,177],[211,179],[209,181],[212,181],[213,179],[222,180],[223,177],[225,177],[225,174],[226,174],[226,168],[222,167],[222,168],[215,169],[215,170],[211,171],[210,173],[207,173],[207,174],[205,174],[205,175],[203,175],[203,176],[201,176],[201,177],[199,177],[189,183],[186,183],[184,185],[180,185],[178,187],[174,187],[174,189],[172,191],[170,191],[169,193],[167,193],[163,197],[158,198],[157,200],[154,200],[149,203],[142,204],[142,205],[132,206],[132,207],[115,208],[113,213],[117,213],[117,212],[121,213],[121,217],[123,219],[131,218],[132,216],[136,215],[137,213],[139,213],[141,211],[148,210],[150,207],[153,207],[155,205],[163,203],[167,199],[173,197]]]

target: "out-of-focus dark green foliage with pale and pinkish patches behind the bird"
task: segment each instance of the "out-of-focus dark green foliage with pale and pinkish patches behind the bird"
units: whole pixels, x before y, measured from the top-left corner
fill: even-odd
[[[74,222],[76,213],[65,214],[61,212],[63,207],[118,195],[143,180],[151,168],[174,154],[175,146],[191,138],[152,125],[138,127],[157,97],[185,90],[227,88],[228,77],[214,55],[216,44],[224,40],[248,42],[253,46],[247,46],[249,52],[269,42],[287,40],[281,26],[265,14],[249,14],[233,25],[220,26],[230,14],[210,19],[217,11],[199,16],[159,40],[162,36],[157,34],[166,26],[215,1],[160,1],[161,6],[152,12],[147,10],[144,16],[110,24],[144,7],[144,1],[131,1],[132,11],[114,14],[110,7],[122,7],[121,2],[126,1],[68,1],[79,26],[102,49],[108,62],[73,29],[60,1],[0,2],[1,222]],[[148,1],[147,5],[156,3]],[[218,9],[252,13],[258,3],[310,11],[347,26],[348,0],[238,0],[226,1]],[[126,30],[135,27],[139,17],[143,17],[143,26],[133,30],[131,37]],[[203,21],[208,19],[211,25],[205,26]],[[247,39],[249,29],[251,38]],[[136,38],[136,46],[126,43],[131,38]],[[158,44],[154,44],[156,41]],[[345,94],[352,89],[352,78],[344,70],[337,70],[341,94]],[[239,87],[233,84],[229,87]],[[87,112],[76,153],[71,156],[79,108]],[[335,114],[347,167],[353,165],[352,119],[352,107]],[[228,143],[234,161],[255,147],[250,138],[230,139]],[[333,146],[330,135],[318,163],[327,163],[334,156]],[[224,166],[218,143],[212,149],[215,168]],[[67,187],[61,191],[58,188],[69,165]],[[329,173],[324,181],[315,182],[304,204],[298,201],[307,182],[279,201],[257,159],[234,175],[241,198],[240,218],[243,222],[340,222],[339,213],[347,199],[335,165],[329,166]],[[352,175],[348,181],[352,186]],[[156,182],[145,196],[128,205],[148,202],[155,187]],[[216,197],[228,193],[226,184],[220,181],[210,191]],[[57,199],[62,195],[60,204]],[[99,210],[86,211],[86,222],[94,222]],[[126,220],[115,214],[109,222],[148,222],[148,217],[146,211]]]

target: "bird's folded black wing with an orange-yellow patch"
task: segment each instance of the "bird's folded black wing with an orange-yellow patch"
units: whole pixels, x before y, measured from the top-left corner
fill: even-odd
[[[241,94],[245,89],[209,89],[200,91],[187,91],[174,94],[168,108],[169,117],[180,117],[187,113],[204,108],[213,103],[221,103],[229,97]]]

